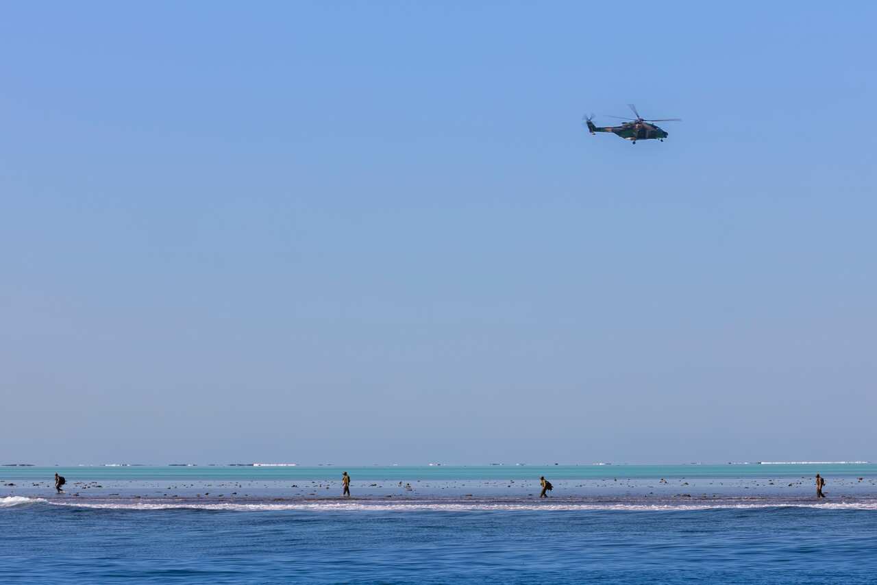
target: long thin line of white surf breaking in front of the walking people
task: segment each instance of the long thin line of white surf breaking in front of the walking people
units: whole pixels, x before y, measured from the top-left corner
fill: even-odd
[[[46,502],[30,500],[29,502]],[[228,510],[228,511],[542,511],[542,510],[619,510],[619,511],[688,511],[688,510],[757,510],[765,508],[815,508],[819,510],[877,510],[877,502],[838,503],[702,503],[688,505],[645,503],[61,503],[55,506],[98,510]]]

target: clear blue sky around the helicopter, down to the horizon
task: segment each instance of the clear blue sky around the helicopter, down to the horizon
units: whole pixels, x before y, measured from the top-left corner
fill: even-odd
[[[6,3],[0,459],[877,460],[875,22]]]

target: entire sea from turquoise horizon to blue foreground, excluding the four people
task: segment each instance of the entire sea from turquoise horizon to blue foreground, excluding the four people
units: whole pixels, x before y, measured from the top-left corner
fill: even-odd
[[[877,465],[0,467],[0,581],[877,582]]]

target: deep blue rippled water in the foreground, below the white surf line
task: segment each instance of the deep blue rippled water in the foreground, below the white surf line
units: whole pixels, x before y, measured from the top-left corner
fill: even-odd
[[[0,509],[0,580],[877,582],[877,511]]]

